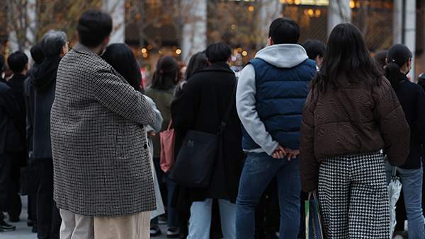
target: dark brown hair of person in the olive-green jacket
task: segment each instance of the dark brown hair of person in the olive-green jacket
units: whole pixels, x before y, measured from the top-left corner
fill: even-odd
[[[152,76],[152,88],[168,90],[174,88],[179,82],[179,62],[173,57],[165,56],[159,58],[157,70]]]

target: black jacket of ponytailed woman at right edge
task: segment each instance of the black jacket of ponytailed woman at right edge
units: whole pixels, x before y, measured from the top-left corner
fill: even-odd
[[[395,93],[409,123],[410,149],[406,162],[400,168],[421,168],[421,144],[425,144],[425,91],[404,74],[401,76],[402,81]]]

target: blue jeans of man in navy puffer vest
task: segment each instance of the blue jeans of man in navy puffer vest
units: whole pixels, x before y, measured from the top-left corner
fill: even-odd
[[[255,209],[267,185],[277,175],[280,239],[297,238],[300,231],[300,158],[290,161],[267,153],[248,153],[239,182],[236,238],[254,238]]]

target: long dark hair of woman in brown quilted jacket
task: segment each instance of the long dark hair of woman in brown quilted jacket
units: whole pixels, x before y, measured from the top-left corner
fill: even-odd
[[[363,81],[370,85],[378,85],[382,76],[370,57],[361,32],[351,23],[341,23],[332,30],[320,70],[310,87],[317,87],[320,91],[339,88],[341,74],[346,75],[348,82]]]

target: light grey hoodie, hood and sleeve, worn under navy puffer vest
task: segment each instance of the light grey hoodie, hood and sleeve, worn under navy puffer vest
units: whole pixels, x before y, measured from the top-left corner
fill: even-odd
[[[255,58],[262,59],[268,64],[279,68],[291,68],[297,66],[308,59],[305,49],[297,44],[278,44],[261,49]],[[256,111],[256,81],[254,66],[247,64],[242,69],[237,83],[236,107],[239,119],[241,119],[246,132],[261,146],[261,148],[244,148],[244,151],[271,155],[278,147],[279,143],[271,134],[266,131],[266,127]]]

